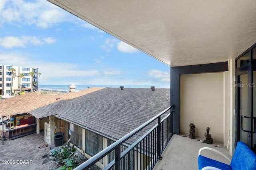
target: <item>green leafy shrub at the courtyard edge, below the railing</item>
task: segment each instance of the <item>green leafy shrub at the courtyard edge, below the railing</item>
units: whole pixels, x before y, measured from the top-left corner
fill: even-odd
[[[70,147],[58,147],[51,150],[51,160],[55,160],[58,166],[57,170],[72,170],[80,163],[80,157],[75,154],[74,145]],[[56,169],[55,169],[56,170]]]

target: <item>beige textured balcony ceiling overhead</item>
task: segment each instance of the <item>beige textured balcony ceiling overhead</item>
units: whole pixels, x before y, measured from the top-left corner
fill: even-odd
[[[48,0],[170,66],[227,61],[256,43],[255,0]]]

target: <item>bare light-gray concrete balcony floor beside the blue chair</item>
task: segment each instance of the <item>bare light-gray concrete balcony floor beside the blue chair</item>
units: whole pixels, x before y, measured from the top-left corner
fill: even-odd
[[[230,159],[232,158],[222,143],[214,141],[213,144],[221,145],[222,147],[214,147],[213,145],[201,143],[200,141],[196,141],[196,139],[190,139],[188,135],[187,137],[173,135],[162,154],[162,160],[158,160],[154,170],[198,170],[198,150],[202,147],[214,148],[226,154]],[[230,164],[226,158],[209,150],[204,150],[202,155]]]

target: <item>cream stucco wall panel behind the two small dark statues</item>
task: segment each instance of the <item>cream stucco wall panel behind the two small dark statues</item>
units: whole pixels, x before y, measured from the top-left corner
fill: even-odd
[[[206,127],[214,141],[224,142],[228,135],[229,111],[228,72],[184,74],[180,77],[181,133],[189,133],[189,124],[196,126],[195,135],[204,137]]]

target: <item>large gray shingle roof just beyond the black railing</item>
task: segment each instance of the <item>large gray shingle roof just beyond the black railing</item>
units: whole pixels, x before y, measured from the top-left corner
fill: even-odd
[[[105,137],[120,139],[169,106],[170,89],[156,88],[151,91],[150,88],[104,88],[58,102],[53,107],[54,113],[61,119]]]

